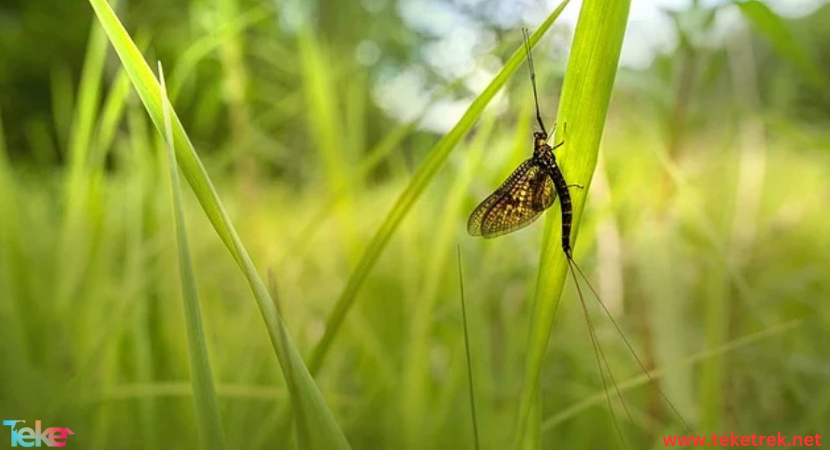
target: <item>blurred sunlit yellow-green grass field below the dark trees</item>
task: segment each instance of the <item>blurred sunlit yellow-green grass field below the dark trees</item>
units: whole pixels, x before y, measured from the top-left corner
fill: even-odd
[[[91,3],[106,17],[103,2]],[[187,180],[171,183],[168,146],[153,128],[159,98],[148,88],[158,104],[139,102],[133,86],[151,83],[129,56],[128,72],[137,67],[129,76],[122,66],[105,75],[111,45],[133,42],[118,42],[115,24],[101,22],[109,37],[92,32],[75,107],[56,120],[71,124],[66,164],[9,158],[0,126],[2,419],[69,427],[72,448],[337,448],[340,432],[351,448],[473,448],[460,245],[482,448],[623,448],[573,280],[560,262],[546,262],[559,258],[558,206],[546,225],[496,240],[466,234],[476,203],[530,155],[520,51],[500,81],[515,71],[514,116],[481,105],[444,140],[399,125],[370,146],[354,131],[369,120],[359,100],[343,100],[349,93],[338,91],[341,81],[313,70],[329,54],[307,37],[299,44],[305,78],[297,95],[307,95],[300,104],[309,139],[282,149],[306,153],[304,182],[246,171],[251,160],[236,149],[267,139],[255,132],[261,118],[237,110],[235,144],[208,152],[210,143],[194,142],[192,161],[187,130],[168,124]],[[228,70],[226,81],[244,78],[233,49],[222,47],[232,40],[217,45],[231,60],[226,67],[242,72]],[[569,67],[588,67],[574,51]],[[165,67],[170,92],[187,79],[181,61]],[[613,82],[613,67],[605,71]],[[610,98],[608,85],[596,100],[610,100],[606,122],[596,109],[579,110],[578,100],[590,99],[568,83],[558,117],[598,124],[574,125],[561,161],[566,175],[584,169],[590,182],[579,199],[587,202],[575,259],[657,379],[647,383],[608,316],[586,298],[632,419],[612,391],[627,447],[663,448],[662,435],[688,433],[661,390],[696,434],[823,433],[830,426],[830,134],[750,115],[762,118],[760,132],[742,119],[701,124],[671,154],[671,139],[655,125],[658,112]],[[0,111],[0,119],[13,114]],[[759,133],[763,139],[751,139]],[[457,144],[442,147],[453,136]],[[580,154],[592,139],[595,172]],[[50,151],[32,145],[34,154]],[[380,156],[363,156],[373,150]],[[200,184],[198,164],[210,184]],[[410,191],[425,167],[431,172]],[[374,176],[378,170],[385,176]],[[172,187],[181,188],[180,205]],[[221,205],[210,203],[211,189]],[[412,193],[411,210],[389,227],[402,193]],[[232,228],[222,228],[220,211],[244,248],[235,247]],[[186,230],[178,240],[177,225]],[[367,248],[378,250],[374,266],[365,262]],[[198,301],[203,332],[183,308],[188,277],[180,274],[189,263],[196,287],[189,298]],[[554,298],[548,292],[559,300],[561,280],[555,322],[534,328],[533,316],[546,314],[540,302]],[[354,303],[320,353],[332,311],[349,295]],[[199,365],[199,345],[209,365]],[[544,358],[533,396],[527,379],[535,351]],[[199,377],[207,384],[192,383]],[[515,433],[521,421],[525,437]],[[7,436],[4,427],[0,438]]]

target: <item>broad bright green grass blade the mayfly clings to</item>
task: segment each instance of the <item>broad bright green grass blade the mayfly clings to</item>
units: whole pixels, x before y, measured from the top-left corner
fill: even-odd
[[[585,0],[574,32],[574,44],[571,47],[557,116],[560,126],[554,139],[554,142],[565,139],[565,144],[557,153],[565,179],[569,183],[585,186],[584,189],[574,189],[571,194],[574,207],[571,244],[574,247],[585,196],[597,165],[599,141],[603,135],[614,77],[617,75],[629,6],[629,0]],[[565,124],[567,126],[562,126]],[[560,247],[560,223],[559,213],[547,214],[528,337],[525,382],[515,430],[515,448],[524,448],[528,434],[535,435],[539,432],[538,429],[530,430],[528,423],[535,404],[554,314],[559,306],[559,296],[568,270],[567,260]]]

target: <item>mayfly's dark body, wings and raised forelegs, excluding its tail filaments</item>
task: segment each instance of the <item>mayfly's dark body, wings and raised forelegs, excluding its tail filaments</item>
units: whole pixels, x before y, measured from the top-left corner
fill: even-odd
[[[557,196],[562,209],[562,249],[571,257],[570,230],[574,217],[569,188],[583,188],[579,184],[568,184],[559,165],[556,164],[554,150],[564,144],[564,140],[551,147],[548,144],[548,132],[539,110],[539,95],[536,91],[536,73],[533,68],[533,56],[527,29],[525,33],[525,51],[530,70],[530,84],[533,86],[533,99],[536,105],[536,121],[541,131],[533,134],[533,155],[510,174],[496,192],[484,199],[470,215],[467,232],[472,236],[497,237],[515,232],[533,223],[544,210],[554,204]],[[555,125],[554,125],[555,126]]]

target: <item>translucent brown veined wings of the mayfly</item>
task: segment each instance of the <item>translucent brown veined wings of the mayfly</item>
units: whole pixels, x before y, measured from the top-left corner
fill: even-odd
[[[550,205],[556,190],[550,176],[534,159],[527,159],[470,215],[467,232],[496,237],[533,223]]]

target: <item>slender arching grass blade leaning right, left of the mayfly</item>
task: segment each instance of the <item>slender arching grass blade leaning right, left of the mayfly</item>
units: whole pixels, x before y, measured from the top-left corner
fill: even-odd
[[[556,17],[559,17],[559,13],[562,12],[568,2],[569,0],[561,2],[559,7],[556,7],[554,12],[551,12],[548,18],[541,23],[536,32],[533,33],[533,36],[530,37],[531,46],[535,46],[536,42],[539,42],[540,37],[548,31],[548,28],[554,23]],[[409,210],[421,196],[423,190],[427,188],[427,185],[430,183],[435,174],[437,174],[438,169],[441,169],[442,164],[444,164],[447,160],[447,157],[452,152],[452,149],[455,148],[456,144],[458,144],[458,141],[460,141],[461,138],[466,135],[467,131],[472,128],[472,125],[474,125],[476,120],[481,117],[481,113],[484,111],[487,104],[490,103],[490,100],[493,99],[501,87],[505,85],[510,76],[513,75],[513,72],[515,72],[524,61],[525,46],[519,46],[518,50],[513,53],[513,56],[510,56],[510,59],[507,60],[505,66],[501,68],[498,75],[493,78],[490,85],[481,92],[481,95],[479,95],[476,100],[473,100],[472,105],[467,108],[466,112],[463,116],[461,116],[461,120],[458,121],[456,126],[452,127],[452,130],[450,130],[450,132],[439,140],[437,144],[435,144],[435,147],[430,150],[427,159],[425,159],[421,164],[421,167],[417,169],[417,172],[413,176],[413,179],[410,180],[408,186],[403,189],[403,193],[401,193],[400,197],[398,197],[398,200],[392,207],[392,211],[388,213],[386,218],[383,220],[383,223],[378,228],[378,231],[375,232],[372,242],[369,242],[369,247],[366,248],[366,251],[364,252],[363,257],[360,258],[357,267],[352,272],[352,275],[349,276],[349,281],[347,281],[343,293],[340,295],[337,304],[334,306],[334,311],[332,311],[329,320],[326,321],[323,339],[320,340],[320,344],[315,347],[314,353],[311,355],[311,359],[309,361],[309,369],[312,374],[315,374],[323,364],[323,360],[325,359],[326,353],[330,349],[334,336],[337,335],[340,325],[343,325],[343,320],[345,319],[346,314],[349,312],[352,305],[354,305],[354,299],[356,298],[360,287],[363,286],[364,281],[366,281],[367,276],[369,276],[369,271],[372,270],[375,262],[378,262],[378,258],[381,253],[383,253],[383,249],[392,238],[395,230],[398,229],[398,225],[400,225],[403,218],[405,218],[409,213]]]

